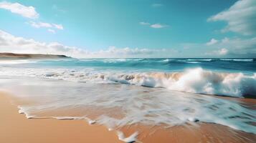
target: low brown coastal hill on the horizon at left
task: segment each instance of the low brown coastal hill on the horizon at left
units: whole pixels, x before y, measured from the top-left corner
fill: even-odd
[[[57,54],[14,54],[14,53],[0,53],[1,59],[59,59],[59,58],[70,58],[65,55]]]

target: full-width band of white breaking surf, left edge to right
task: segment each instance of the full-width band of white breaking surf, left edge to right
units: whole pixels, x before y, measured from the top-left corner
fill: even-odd
[[[0,75],[44,77],[74,82],[119,83],[166,89],[197,94],[215,94],[230,97],[256,95],[256,74],[220,73],[202,68],[183,72],[113,72],[93,69],[30,69],[3,67]]]

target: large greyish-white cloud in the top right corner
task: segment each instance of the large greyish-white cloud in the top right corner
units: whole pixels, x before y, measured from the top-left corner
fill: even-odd
[[[229,9],[211,16],[208,21],[227,21],[227,26],[222,29],[234,31],[244,35],[256,34],[256,1],[240,0]]]

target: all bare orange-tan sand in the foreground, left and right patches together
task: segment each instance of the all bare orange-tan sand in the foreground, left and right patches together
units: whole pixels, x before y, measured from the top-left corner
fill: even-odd
[[[246,99],[243,99],[243,102]],[[65,142],[121,142],[115,131],[98,124],[89,125],[85,120],[27,119],[18,113],[11,97],[0,92],[0,141],[6,143],[65,143]],[[253,101],[255,102],[255,101]],[[250,102],[251,104],[252,102]],[[132,125],[118,129],[130,136],[139,132],[138,140],[144,143],[183,143],[183,142],[232,142],[250,143],[256,135],[237,131],[219,124],[199,123],[164,128],[159,125],[149,127]]]

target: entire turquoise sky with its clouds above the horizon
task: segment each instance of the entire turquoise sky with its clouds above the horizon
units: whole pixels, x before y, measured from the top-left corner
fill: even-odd
[[[0,1],[0,52],[256,57],[256,0]]]

